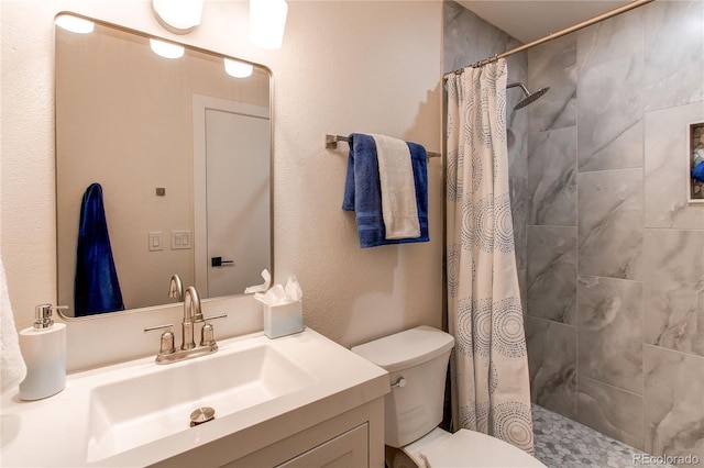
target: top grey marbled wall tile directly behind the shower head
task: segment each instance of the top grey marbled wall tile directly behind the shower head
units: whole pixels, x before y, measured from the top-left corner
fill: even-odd
[[[530,133],[576,124],[576,36],[568,34],[528,51],[528,89],[550,87],[528,105]]]

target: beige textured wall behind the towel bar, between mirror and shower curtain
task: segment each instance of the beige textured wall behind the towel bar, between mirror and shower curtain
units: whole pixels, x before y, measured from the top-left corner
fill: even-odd
[[[382,133],[440,152],[441,2],[292,2],[276,81],[276,268],[306,320],[354,345],[442,316],[442,163],[430,159],[430,243],[360,249],[342,212],[346,144]],[[280,104],[280,105],[279,105]]]

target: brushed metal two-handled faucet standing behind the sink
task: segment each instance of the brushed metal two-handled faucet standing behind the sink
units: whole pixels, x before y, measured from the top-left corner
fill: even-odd
[[[161,346],[156,355],[156,364],[170,364],[191,357],[204,356],[218,350],[212,325],[208,323],[210,320],[223,319],[227,314],[202,316],[200,310],[200,296],[195,287],[189,286],[183,291],[183,282],[178,275],[172,276],[168,287],[168,296],[178,298],[184,302],[184,320],[182,322],[183,342],[180,349],[174,346],[174,334],[172,333],[172,324],[147,326],[144,332],[155,330],[164,330],[162,333]],[[202,323],[200,330],[200,345],[196,346],[194,341],[194,324]]]

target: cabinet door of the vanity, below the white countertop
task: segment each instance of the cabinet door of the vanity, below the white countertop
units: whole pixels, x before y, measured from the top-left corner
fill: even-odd
[[[359,468],[369,464],[369,427],[362,424],[282,465],[282,468]]]

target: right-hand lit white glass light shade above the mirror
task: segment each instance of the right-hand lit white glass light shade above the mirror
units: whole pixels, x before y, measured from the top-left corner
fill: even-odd
[[[264,48],[280,48],[286,26],[286,0],[250,0],[250,41]]]

